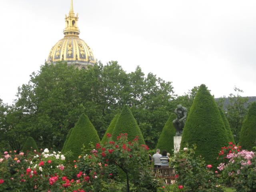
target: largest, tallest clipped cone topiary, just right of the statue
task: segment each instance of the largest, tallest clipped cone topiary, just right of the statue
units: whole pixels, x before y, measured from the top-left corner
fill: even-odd
[[[196,144],[196,155],[202,155],[207,164],[218,166],[218,152],[228,143],[228,136],[218,106],[213,96],[202,84],[193,104],[182,133],[180,148]]]

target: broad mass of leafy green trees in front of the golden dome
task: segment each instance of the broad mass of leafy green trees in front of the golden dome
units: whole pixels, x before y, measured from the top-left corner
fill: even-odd
[[[106,65],[99,62],[88,70],[62,62],[44,65],[18,88],[8,118],[13,120],[5,130],[10,136],[4,140],[22,146],[22,138],[14,136],[20,131],[33,136],[42,147],[60,150],[82,113],[88,114],[102,138],[114,114],[126,104],[142,127],[147,144],[155,147],[169,111],[174,110],[172,89],[171,82],[152,73],[145,75],[140,67],[126,73],[115,61]]]

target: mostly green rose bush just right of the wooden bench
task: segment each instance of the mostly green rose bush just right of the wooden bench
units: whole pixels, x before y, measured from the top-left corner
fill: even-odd
[[[183,186],[185,192],[222,192],[214,168],[210,164],[207,165],[201,156],[195,156],[195,150],[196,146],[181,148],[172,159],[176,184]]]

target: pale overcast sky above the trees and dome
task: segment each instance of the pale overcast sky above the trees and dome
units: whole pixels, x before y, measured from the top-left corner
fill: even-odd
[[[0,98],[12,104],[64,37],[70,0],[0,0]],[[175,94],[206,84],[256,96],[255,0],[74,0],[82,38],[104,64],[140,66]]]

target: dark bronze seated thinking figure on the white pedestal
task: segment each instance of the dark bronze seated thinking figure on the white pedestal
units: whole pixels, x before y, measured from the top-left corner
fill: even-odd
[[[177,118],[172,123],[176,128],[176,136],[181,136],[187,118],[187,108],[179,104],[174,113],[177,115]]]

